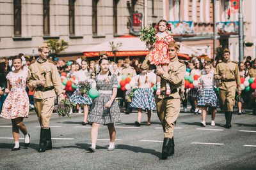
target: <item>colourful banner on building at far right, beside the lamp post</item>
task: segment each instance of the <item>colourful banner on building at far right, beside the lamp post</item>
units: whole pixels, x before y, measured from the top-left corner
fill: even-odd
[[[219,33],[236,33],[239,31],[239,22],[217,22]]]

